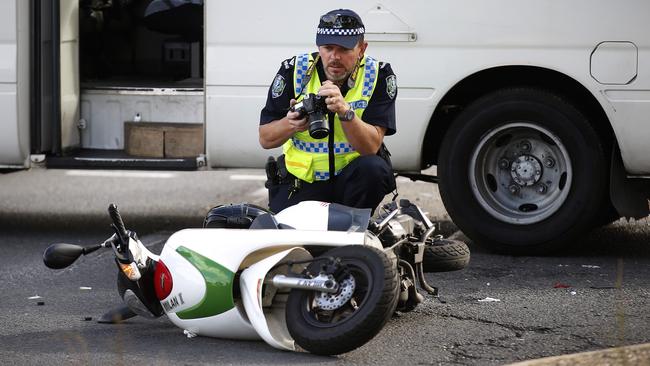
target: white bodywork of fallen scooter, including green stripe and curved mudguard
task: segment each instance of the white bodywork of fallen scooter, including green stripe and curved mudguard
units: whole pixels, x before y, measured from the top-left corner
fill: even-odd
[[[274,347],[293,349],[292,341],[289,344],[283,331],[278,330],[286,328],[284,320],[278,322],[277,316],[269,320],[268,314],[264,315],[266,309],[251,305],[261,304],[259,279],[296,247],[363,245],[364,240],[365,234],[359,232],[181,230],[169,238],[160,254],[173,279],[171,293],[161,304],[176,326],[193,334],[263,338]],[[264,261],[269,257],[272,258]],[[249,298],[248,306],[233,298],[235,273],[245,268],[250,271],[246,279],[240,280],[240,285],[242,293]],[[254,320],[249,311],[255,312]],[[269,324],[277,329],[269,329]]]

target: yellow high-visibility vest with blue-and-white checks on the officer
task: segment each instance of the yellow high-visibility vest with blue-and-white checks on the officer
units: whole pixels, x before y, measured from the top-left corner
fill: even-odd
[[[309,93],[318,93],[321,81],[315,67],[311,54],[296,56],[296,64],[293,72],[294,91],[297,101],[301,101]],[[308,72],[311,71],[311,72]],[[379,63],[369,56],[364,56],[356,73],[354,87],[345,95],[345,101],[350,104],[354,113],[361,118],[363,111],[368,106],[375,86],[377,85],[377,74]],[[311,74],[311,75],[308,75]],[[306,85],[304,85],[306,84]],[[330,130],[332,121],[330,122]],[[359,157],[359,153],[350,145],[343,132],[341,120],[334,114],[334,171],[338,174],[352,160]],[[329,170],[329,148],[328,137],[314,139],[309,136],[309,131],[295,133],[282,146],[285,155],[285,163],[289,173],[306,182],[328,180]]]

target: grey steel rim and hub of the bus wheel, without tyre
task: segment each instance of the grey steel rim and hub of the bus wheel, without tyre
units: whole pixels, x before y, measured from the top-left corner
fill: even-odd
[[[515,225],[556,212],[573,177],[562,141],[528,122],[504,124],[483,136],[472,152],[469,174],[474,197],[486,212]]]

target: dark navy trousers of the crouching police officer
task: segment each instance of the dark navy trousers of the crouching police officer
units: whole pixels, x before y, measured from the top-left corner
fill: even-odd
[[[356,208],[374,209],[384,196],[395,189],[392,168],[378,155],[360,156],[348,164],[334,179],[301,182],[291,194],[291,184],[269,188],[269,208],[277,213],[302,201],[339,203]]]

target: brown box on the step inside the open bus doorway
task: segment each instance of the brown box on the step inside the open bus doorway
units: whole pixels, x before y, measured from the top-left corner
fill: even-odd
[[[191,158],[203,154],[200,123],[124,122],[124,151],[150,158]]]

